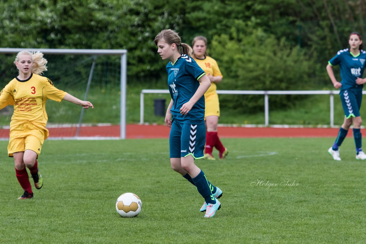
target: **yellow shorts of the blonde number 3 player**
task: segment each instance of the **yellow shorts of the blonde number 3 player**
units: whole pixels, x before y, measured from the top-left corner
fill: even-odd
[[[13,157],[13,153],[32,150],[38,155],[41,153],[44,142],[44,131],[40,131],[31,123],[18,125],[10,130],[8,155]]]

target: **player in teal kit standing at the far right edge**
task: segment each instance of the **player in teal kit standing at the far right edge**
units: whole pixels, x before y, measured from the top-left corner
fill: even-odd
[[[336,56],[328,61],[326,71],[335,88],[340,88],[340,98],[344,110],[344,121],[339,129],[337,139],[328,153],[333,159],[341,160],[339,157],[339,147],[346,138],[348,129],[353,124],[353,136],[356,144],[356,159],[366,159],[366,154],[362,151],[362,135],[360,107],[362,101],[362,88],[366,83],[366,78],[362,79],[365,70],[366,52],[362,50],[362,37],[357,32],[350,34],[348,43],[350,48],[340,50]],[[338,82],[333,73],[333,66],[339,65],[341,72],[341,82]]]

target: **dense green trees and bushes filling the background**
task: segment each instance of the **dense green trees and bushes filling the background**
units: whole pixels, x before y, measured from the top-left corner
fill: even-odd
[[[171,28],[188,44],[198,34],[208,38],[224,75],[219,89],[303,90],[333,89],[326,63],[352,31],[365,37],[366,7],[356,0],[8,0],[0,12],[1,47],[127,49],[129,85],[165,79],[154,37]],[[250,112],[261,99],[220,104]],[[303,98],[273,99],[282,108]]]

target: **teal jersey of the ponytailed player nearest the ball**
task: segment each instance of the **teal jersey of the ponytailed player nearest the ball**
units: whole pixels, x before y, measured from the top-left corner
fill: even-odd
[[[182,54],[174,64],[167,64],[168,88],[173,99],[173,106],[170,110],[173,119],[183,124],[205,123],[205,97],[202,96],[193,105],[186,115],[180,114],[179,109],[188,102],[199,86],[198,79],[205,72],[198,66],[190,56]]]

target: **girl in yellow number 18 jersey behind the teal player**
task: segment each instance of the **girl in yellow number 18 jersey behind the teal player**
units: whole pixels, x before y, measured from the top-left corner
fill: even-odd
[[[212,156],[213,147],[219,150],[219,158],[223,159],[228,155],[228,150],[221,143],[217,135],[217,123],[220,117],[219,96],[216,93],[216,84],[223,79],[216,61],[208,56],[207,38],[199,35],[192,41],[193,58],[206,72],[211,81],[210,88],[205,93],[205,123],[206,123],[206,146],[205,159],[214,160]]]

